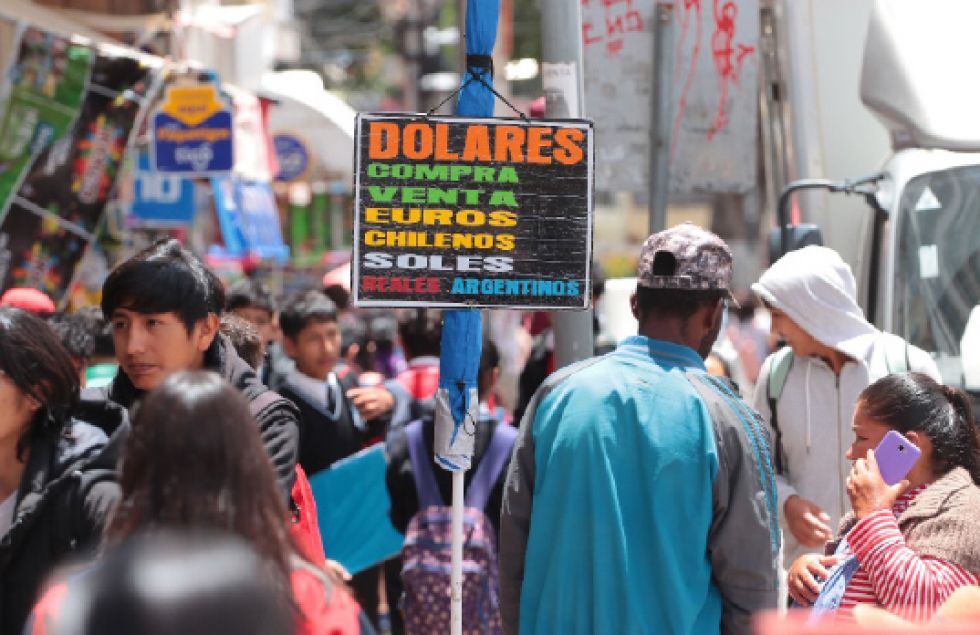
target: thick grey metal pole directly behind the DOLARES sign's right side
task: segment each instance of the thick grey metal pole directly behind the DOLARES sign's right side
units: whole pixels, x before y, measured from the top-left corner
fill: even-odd
[[[572,64],[578,84],[572,117],[585,115],[584,64],[582,61],[582,8],[568,0],[541,0],[541,57],[546,64]],[[545,111],[546,116],[553,113]],[[568,116],[561,113],[561,116]],[[555,311],[555,364],[558,368],[593,355],[592,309]]]

